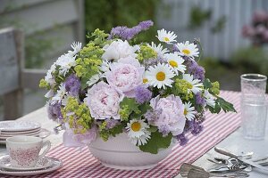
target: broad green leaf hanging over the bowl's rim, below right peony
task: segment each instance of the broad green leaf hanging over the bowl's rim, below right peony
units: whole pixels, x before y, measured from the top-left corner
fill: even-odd
[[[151,139],[147,141],[145,145],[140,145],[139,150],[157,154],[159,149],[166,149],[171,145],[172,134],[168,134],[163,137],[163,134],[159,132],[151,133]]]

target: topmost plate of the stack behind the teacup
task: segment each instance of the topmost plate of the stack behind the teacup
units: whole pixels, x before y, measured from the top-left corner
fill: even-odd
[[[40,128],[41,125],[36,122],[26,120],[10,120],[0,122],[0,131],[5,132],[18,132],[18,131],[29,131]]]

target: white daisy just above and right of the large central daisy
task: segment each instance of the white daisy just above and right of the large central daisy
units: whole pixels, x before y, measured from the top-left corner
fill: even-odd
[[[184,73],[186,70],[186,66],[182,64],[184,60],[177,53],[166,53],[164,57],[167,59],[176,75],[179,74],[179,71]]]

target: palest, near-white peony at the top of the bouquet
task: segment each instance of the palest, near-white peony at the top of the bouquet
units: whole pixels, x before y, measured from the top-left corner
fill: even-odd
[[[105,53],[102,56],[104,60],[118,61],[121,58],[133,57],[135,58],[138,50],[137,46],[131,46],[128,41],[117,40],[112,44],[106,44],[104,46]]]

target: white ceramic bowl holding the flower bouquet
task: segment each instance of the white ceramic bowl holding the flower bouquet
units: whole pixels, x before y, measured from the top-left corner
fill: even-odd
[[[107,142],[98,137],[88,148],[104,166],[123,170],[152,168],[172,152],[172,146],[157,154],[143,152],[129,141],[127,134],[110,137]]]

